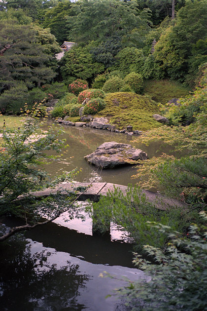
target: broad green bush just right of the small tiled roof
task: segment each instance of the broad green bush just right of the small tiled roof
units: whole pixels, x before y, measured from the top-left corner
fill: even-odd
[[[104,71],[104,65],[94,62],[89,53],[90,47],[73,46],[61,60],[61,74],[64,79],[68,76],[91,80]]]

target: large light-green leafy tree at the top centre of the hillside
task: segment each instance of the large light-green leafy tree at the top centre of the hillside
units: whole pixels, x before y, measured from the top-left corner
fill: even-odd
[[[68,18],[68,27],[71,29],[69,38],[82,44],[88,44],[92,40],[103,42],[99,48],[104,53],[109,50],[108,46],[114,46],[110,42],[114,36],[126,36],[124,39],[127,44],[130,41],[130,36],[127,35],[131,35],[135,28],[149,29],[148,10],[141,12],[136,1],[83,0],[81,5],[76,2],[71,8],[76,16]],[[105,41],[108,43],[104,43]],[[117,50],[116,45],[115,48]]]

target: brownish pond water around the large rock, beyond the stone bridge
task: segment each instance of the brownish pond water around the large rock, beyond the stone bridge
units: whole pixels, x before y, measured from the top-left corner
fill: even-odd
[[[129,183],[135,185],[136,179],[132,179],[131,176],[136,174],[138,167],[136,166],[124,166],[114,169],[101,170],[97,167],[90,165],[84,156],[91,154],[104,142],[115,141],[118,143],[131,144],[133,147],[139,148],[147,153],[149,157],[157,156],[162,152],[168,152],[171,149],[168,145],[162,145],[158,142],[145,146],[136,142],[138,136],[129,136],[126,134],[109,132],[107,130],[93,129],[91,127],[78,127],[78,126],[63,126],[57,125],[57,127],[64,128],[65,133],[61,135],[66,139],[66,144],[69,148],[64,150],[62,159],[55,164],[46,165],[45,169],[51,174],[61,174],[62,171],[70,171],[76,167],[82,168],[82,171],[76,177],[76,181],[89,182],[96,179],[96,182],[108,182],[113,184],[125,185]],[[47,129],[45,127],[44,129]],[[52,153],[51,153],[52,154]]]

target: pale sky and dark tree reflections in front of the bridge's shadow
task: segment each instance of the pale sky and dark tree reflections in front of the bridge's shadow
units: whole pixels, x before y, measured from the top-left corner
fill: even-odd
[[[121,301],[105,299],[125,283],[100,278],[104,271],[132,280],[144,278],[138,269],[94,265],[31,239],[15,238],[0,256],[0,310],[126,311]]]

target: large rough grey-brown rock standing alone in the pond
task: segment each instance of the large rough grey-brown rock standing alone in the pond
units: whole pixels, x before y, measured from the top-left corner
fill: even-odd
[[[129,144],[107,142],[99,146],[95,152],[84,158],[91,164],[102,168],[131,164],[129,160],[146,160],[147,154]],[[135,163],[132,163],[135,164]]]

